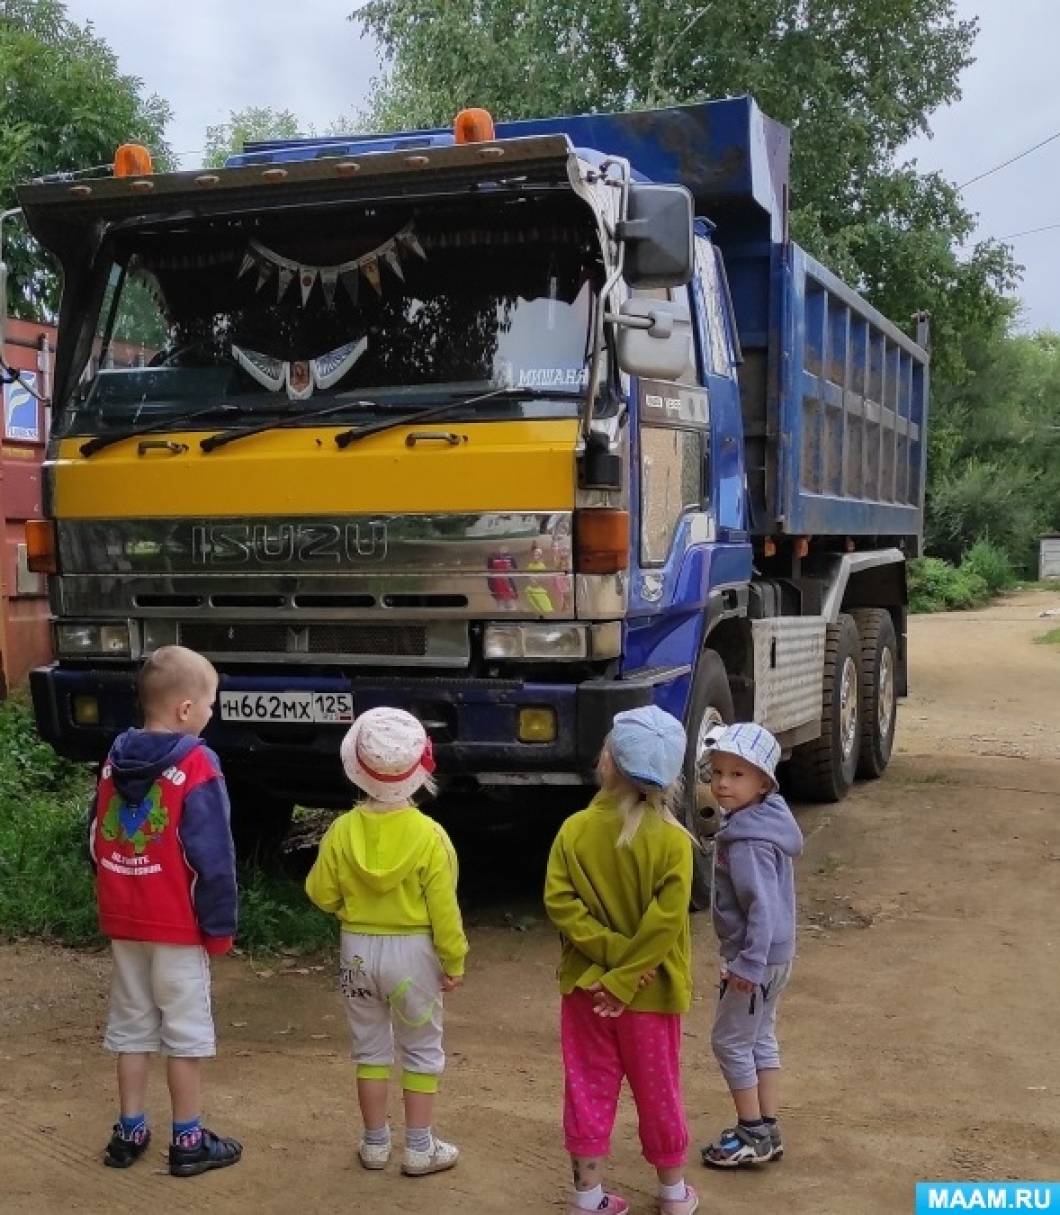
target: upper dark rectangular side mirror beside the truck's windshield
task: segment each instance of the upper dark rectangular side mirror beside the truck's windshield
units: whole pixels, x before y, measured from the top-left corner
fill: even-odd
[[[684,287],[692,278],[692,194],[684,186],[630,185],[622,273],[631,287]]]

